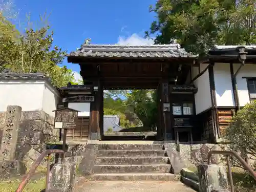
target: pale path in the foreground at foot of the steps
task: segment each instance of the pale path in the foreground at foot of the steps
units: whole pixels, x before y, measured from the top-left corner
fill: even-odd
[[[195,192],[180,181],[88,181],[75,192]]]

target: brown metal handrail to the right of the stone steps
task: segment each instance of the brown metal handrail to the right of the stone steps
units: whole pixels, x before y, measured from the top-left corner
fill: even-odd
[[[211,160],[212,154],[220,154],[220,155],[227,156],[228,180],[231,187],[231,192],[234,192],[234,185],[233,185],[232,171],[230,166],[230,157],[229,157],[230,155],[236,157],[238,161],[242,164],[242,166],[249,172],[252,178],[256,181],[256,172],[254,172],[252,167],[250,167],[250,165],[246,163],[245,160],[243,160],[243,158],[238,153],[232,152],[232,151],[210,151],[207,157],[208,164],[211,164],[210,160]]]

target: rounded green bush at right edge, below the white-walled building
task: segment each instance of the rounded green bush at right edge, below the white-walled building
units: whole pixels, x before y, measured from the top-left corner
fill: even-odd
[[[256,101],[246,104],[233,116],[225,137],[231,142],[232,151],[246,149],[249,156],[256,157]]]

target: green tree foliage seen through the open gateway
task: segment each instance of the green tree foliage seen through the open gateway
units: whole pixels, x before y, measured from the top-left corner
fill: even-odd
[[[124,128],[144,126],[148,131],[155,130],[157,122],[155,91],[115,90],[107,93],[104,98],[104,115],[119,115],[120,125]]]

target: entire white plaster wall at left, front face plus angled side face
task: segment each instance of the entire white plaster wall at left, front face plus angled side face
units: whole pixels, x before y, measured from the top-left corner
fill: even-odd
[[[44,110],[54,116],[59,93],[45,81],[0,81],[0,111],[19,105],[22,111]]]

